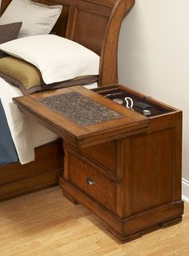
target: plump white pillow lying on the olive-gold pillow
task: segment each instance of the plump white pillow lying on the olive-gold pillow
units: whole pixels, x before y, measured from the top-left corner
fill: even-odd
[[[77,76],[99,74],[99,56],[58,35],[33,35],[2,43],[0,49],[34,64],[48,85]]]

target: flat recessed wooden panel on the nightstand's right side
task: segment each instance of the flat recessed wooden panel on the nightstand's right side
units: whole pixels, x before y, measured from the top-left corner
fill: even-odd
[[[174,149],[174,129],[131,138],[132,213],[175,200]]]

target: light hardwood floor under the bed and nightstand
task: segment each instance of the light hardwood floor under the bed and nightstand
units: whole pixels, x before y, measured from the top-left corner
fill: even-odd
[[[120,244],[82,205],[58,187],[0,203],[1,256],[189,255],[189,204],[183,222]]]

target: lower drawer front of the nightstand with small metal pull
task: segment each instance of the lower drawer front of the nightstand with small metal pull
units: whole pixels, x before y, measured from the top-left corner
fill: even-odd
[[[68,155],[68,166],[68,180],[115,213],[115,182],[72,154]]]

